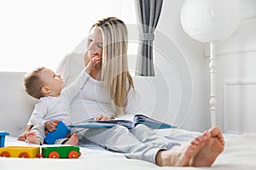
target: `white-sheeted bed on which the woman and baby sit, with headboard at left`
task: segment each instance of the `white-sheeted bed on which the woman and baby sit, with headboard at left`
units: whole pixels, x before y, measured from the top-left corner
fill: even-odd
[[[0,131],[10,133],[5,146],[27,145],[17,141],[32,112],[35,99],[23,90],[22,72],[0,72]],[[137,80],[135,80],[136,82]],[[180,143],[188,142],[199,134],[181,128],[157,130],[166,136],[177,137]],[[224,152],[212,167],[158,167],[153,163],[127,159],[91,144],[80,145],[79,159],[39,159],[0,157],[0,169],[256,169],[256,134],[224,134]]]

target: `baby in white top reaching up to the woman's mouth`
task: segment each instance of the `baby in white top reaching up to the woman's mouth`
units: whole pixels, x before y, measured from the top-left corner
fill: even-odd
[[[44,144],[45,129],[53,132],[56,129],[55,121],[62,121],[69,125],[69,106],[73,98],[79,94],[87,81],[90,69],[93,65],[101,62],[100,59],[91,59],[76,80],[67,88],[62,89],[62,79],[46,67],[39,67],[27,73],[24,77],[26,93],[38,99],[38,103],[30,117],[29,124],[33,127],[30,133],[26,134],[26,142],[29,144]],[[55,144],[77,145],[79,138],[76,133],[70,138],[57,139]]]

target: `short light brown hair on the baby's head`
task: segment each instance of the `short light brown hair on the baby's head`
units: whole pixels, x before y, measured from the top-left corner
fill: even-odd
[[[46,69],[46,67],[41,66],[34,71],[28,72],[24,77],[24,87],[27,94],[31,95],[36,99],[44,97],[42,88],[44,87],[44,82],[42,81],[39,73]]]

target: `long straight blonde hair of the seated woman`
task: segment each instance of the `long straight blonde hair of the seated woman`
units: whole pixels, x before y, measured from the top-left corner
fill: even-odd
[[[131,87],[134,88],[128,71],[127,27],[122,20],[116,17],[98,20],[91,29],[95,26],[102,32],[101,80],[104,82],[105,88],[108,89],[113,100],[115,107],[113,116],[121,116],[125,114],[124,109],[128,91]]]

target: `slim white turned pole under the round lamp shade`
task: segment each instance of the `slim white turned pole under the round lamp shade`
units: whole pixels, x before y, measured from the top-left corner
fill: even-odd
[[[210,76],[211,76],[211,94],[210,94],[210,114],[211,114],[211,126],[216,126],[216,62],[215,62],[215,42],[210,42],[211,55],[210,55]]]

